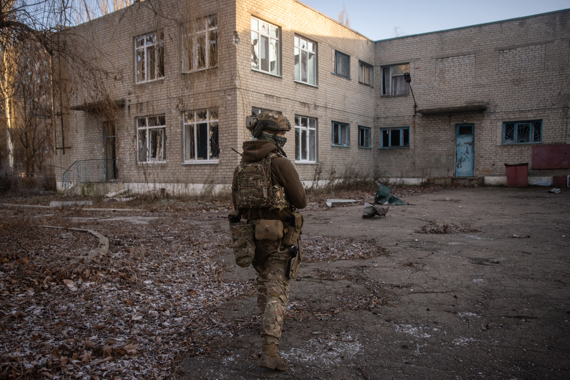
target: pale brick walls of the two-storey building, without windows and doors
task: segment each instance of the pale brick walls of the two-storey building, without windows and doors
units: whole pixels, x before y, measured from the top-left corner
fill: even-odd
[[[391,177],[454,175],[455,124],[475,124],[475,176],[504,175],[504,163],[531,162],[532,145],[502,145],[502,122],[543,120],[543,144],[563,144],[570,102],[570,12],[539,15],[431,34],[373,42],[294,0],[279,2],[205,0],[156,2],[166,14],[157,18],[141,5],[106,15],[76,28],[88,38],[92,60],[109,72],[100,88],[111,99],[125,99],[117,121],[119,179],[130,183],[229,183],[241,150],[249,140],[245,116],[251,108],[315,117],[318,162],[342,173],[353,165],[362,173]],[[218,68],[194,75],[181,73],[178,22],[218,15]],[[280,27],[282,75],[251,70],[250,18]],[[133,38],[164,30],[165,77],[146,84],[133,78]],[[317,43],[318,87],[294,81],[294,35]],[[234,43],[234,36],[239,44]],[[351,56],[351,79],[333,75],[335,50]],[[374,63],[374,87],[359,83],[359,60]],[[380,67],[410,63],[418,109],[484,103],[484,113],[414,116],[412,95],[381,96]],[[92,83],[99,83],[96,79]],[[101,83],[99,83],[101,84]],[[71,105],[90,103],[97,92],[70,92]],[[219,108],[219,164],[182,165],[181,112]],[[166,163],[137,164],[136,117],[166,117]],[[103,121],[108,115],[72,111],[66,150],[56,165],[103,158]],[[350,124],[351,147],[331,146],[331,122]],[[358,148],[358,126],[368,126],[372,149]],[[410,148],[381,150],[380,128],[410,127]],[[60,141],[60,133],[58,141]],[[288,157],[295,137],[288,134]],[[312,179],[314,165],[296,164],[302,179]],[[58,179],[63,169],[56,173]],[[536,175],[560,174],[544,171]]]

